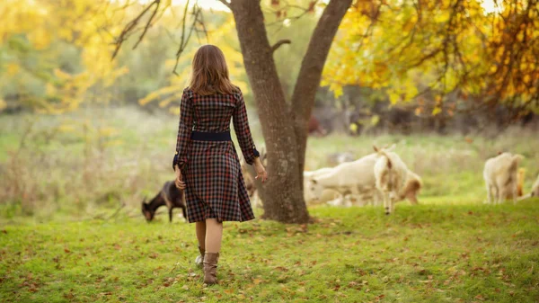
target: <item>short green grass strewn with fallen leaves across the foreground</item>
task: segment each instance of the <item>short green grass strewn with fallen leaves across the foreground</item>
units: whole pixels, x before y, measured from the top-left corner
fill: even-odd
[[[7,226],[3,302],[537,302],[539,201],[312,209],[315,223],[225,223],[219,285],[194,226],[164,217]]]

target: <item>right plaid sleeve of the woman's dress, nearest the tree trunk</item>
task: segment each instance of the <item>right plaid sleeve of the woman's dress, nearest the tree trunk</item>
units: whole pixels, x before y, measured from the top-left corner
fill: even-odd
[[[245,162],[252,165],[254,158],[260,156],[260,153],[256,150],[252,140],[251,129],[249,128],[249,120],[247,119],[247,110],[245,109],[245,102],[243,101],[242,92],[235,94],[235,97],[236,106],[232,116],[234,131],[236,133],[236,138],[238,138],[238,143],[242,148],[242,154]]]

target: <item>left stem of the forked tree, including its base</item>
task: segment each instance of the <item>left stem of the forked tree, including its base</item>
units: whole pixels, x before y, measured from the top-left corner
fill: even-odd
[[[303,198],[303,178],[296,174],[296,132],[273,61],[260,2],[233,0],[230,6],[268,151],[269,178],[263,189],[259,187],[264,218],[305,223],[309,214]]]

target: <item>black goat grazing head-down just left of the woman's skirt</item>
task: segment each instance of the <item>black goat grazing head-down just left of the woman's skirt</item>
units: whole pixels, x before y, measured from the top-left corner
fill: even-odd
[[[149,203],[146,203],[146,197],[142,201],[142,214],[146,221],[154,219],[155,210],[160,206],[166,205],[169,209],[169,221],[172,222],[172,209],[180,208],[183,218],[187,219],[187,208],[185,207],[185,197],[183,191],[178,189],[173,181],[163,184],[163,189],[157,193]]]

